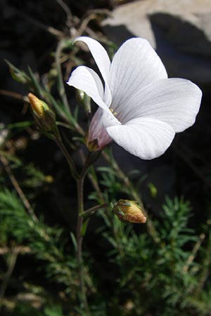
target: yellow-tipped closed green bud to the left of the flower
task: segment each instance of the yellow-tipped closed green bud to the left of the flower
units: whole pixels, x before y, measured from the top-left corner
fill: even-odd
[[[56,115],[49,108],[44,101],[39,100],[34,94],[29,93],[30,105],[34,121],[39,126],[39,129],[49,138],[55,138],[59,136],[56,126]]]

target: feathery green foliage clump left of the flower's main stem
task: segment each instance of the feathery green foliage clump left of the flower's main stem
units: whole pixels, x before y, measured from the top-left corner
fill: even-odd
[[[43,218],[38,220],[32,216],[17,195],[7,189],[0,192],[0,228],[1,246],[28,246],[27,256],[37,261],[37,267],[44,270],[46,279],[60,284],[61,289],[75,299],[75,254],[65,251],[67,239],[63,229],[51,227]]]

